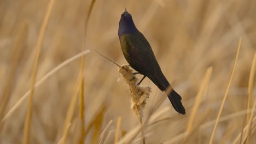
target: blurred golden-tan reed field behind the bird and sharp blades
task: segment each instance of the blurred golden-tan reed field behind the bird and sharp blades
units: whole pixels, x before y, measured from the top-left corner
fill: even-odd
[[[10,75],[13,81],[9,89],[9,100],[5,103],[5,114],[30,89],[35,47],[48,2],[0,1],[0,99],[3,98],[2,93],[7,91]],[[89,5],[90,1],[55,1],[43,38],[36,81],[63,61],[81,52],[84,21]],[[86,143],[95,142],[94,131],[101,134],[110,120],[113,120],[113,123],[107,129],[103,141],[109,134],[107,143],[113,143],[114,133],[109,131],[116,129],[119,116],[122,118],[120,131],[123,131],[123,134],[129,133],[139,125],[135,113],[130,108],[129,88],[118,73],[117,66],[94,51],[100,51],[120,65],[127,64],[118,38],[120,15],[125,7],[132,15],[136,27],[148,39],[167,80],[182,96],[182,103],[187,111],[184,116],[178,115],[166,98],[158,111],[166,107],[170,109],[157,119],[168,119],[144,129],[146,143],[171,143],[170,140],[176,139],[186,131],[204,74],[206,69],[212,66],[210,82],[207,83],[195,113],[193,133],[187,138],[188,143],[208,143],[214,123],[203,128],[202,125],[214,122],[217,118],[240,37],[240,55],[221,117],[247,109],[249,75],[256,45],[256,1],[96,1],[88,24],[85,45],[85,49],[91,50],[85,55],[84,66],[85,129],[98,113],[101,121],[97,121],[96,127],[93,126],[89,130]],[[13,61],[18,63],[14,67],[15,73],[11,74]],[[80,59],[77,59],[65,65],[35,89],[31,143],[57,143],[61,139],[79,70]],[[140,79],[142,76],[138,77]],[[149,79],[145,79],[141,85],[152,87],[144,109],[144,116],[147,117],[156,99],[165,94]],[[255,100],[254,91],[253,88],[251,107]],[[22,142],[27,100],[25,99],[18,109],[1,123],[0,143]],[[74,137],[79,135],[78,114],[79,103],[75,107],[67,143],[75,143],[74,139],[77,138]],[[232,143],[247,124],[245,118],[246,113],[243,113],[219,122],[213,142]],[[251,135],[253,143],[256,140],[255,127],[252,128]],[[137,138],[139,136],[140,133]],[[183,139],[172,142],[180,143]]]

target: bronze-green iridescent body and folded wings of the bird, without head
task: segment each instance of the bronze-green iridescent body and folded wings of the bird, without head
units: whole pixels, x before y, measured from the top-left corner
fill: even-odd
[[[168,81],[162,74],[150,44],[142,33],[125,34],[121,37],[122,50],[127,62],[139,73],[152,80],[161,91],[168,87]],[[124,48],[124,49],[123,49]]]

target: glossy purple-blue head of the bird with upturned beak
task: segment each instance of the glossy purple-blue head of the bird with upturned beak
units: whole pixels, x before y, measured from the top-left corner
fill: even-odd
[[[138,32],[138,29],[134,25],[131,14],[129,14],[125,8],[125,11],[121,15],[121,19],[119,21],[119,29],[118,29],[119,38],[121,37],[122,34],[133,33],[133,32]]]

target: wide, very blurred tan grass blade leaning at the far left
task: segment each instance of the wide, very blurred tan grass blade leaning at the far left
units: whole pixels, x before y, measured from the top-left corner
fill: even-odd
[[[14,81],[15,81],[15,74],[18,69],[20,57],[21,57],[21,52],[22,49],[24,48],[24,43],[27,38],[27,28],[28,25],[26,22],[22,23],[22,25],[19,27],[18,32],[16,34],[15,42],[12,47],[13,52],[11,53],[11,64],[6,71],[6,74],[8,74],[7,82],[6,85],[3,88],[3,93],[1,94],[2,96],[0,97],[0,119],[3,118],[4,113],[7,109],[9,99],[10,99],[10,94],[11,90],[14,86]],[[0,123],[0,135],[2,132],[3,128],[3,123]]]

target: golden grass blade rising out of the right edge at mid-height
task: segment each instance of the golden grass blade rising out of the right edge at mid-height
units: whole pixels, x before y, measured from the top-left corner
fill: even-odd
[[[254,53],[252,68],[250,71],[249,77],[249,85],[248,85],[248,101],[247,101],[247,110],[251,108],[252,103],[252,90],[253,90],[253,81],[254,81],[254,74],[255,74],[255,63],[256,63],[256,52]],[[249,122],[249,113],[247,113],[247,122]]]

